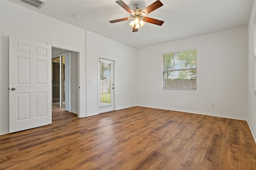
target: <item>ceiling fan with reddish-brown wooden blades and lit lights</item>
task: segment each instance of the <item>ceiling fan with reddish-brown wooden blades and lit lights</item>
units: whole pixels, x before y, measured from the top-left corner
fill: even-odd
[[[144,10],[140,9],[141,4],[139,2],[136,2],[133,4],[133,7],[135,8],[134,10],[132,10],[122,0],[118,0],[118,1],[116,1],[116,3],[118,5],[120,5],[122,8],[124,8],[124,10],[129,12],[131,17],[121,18],[118,20],[112,20],[112,21],[109,21],[110,23],[132,20],[132,22],[130,22],[130,24],[129,24],[132,27],[132,32],[137,32],[139,30],[139,28],[141,28],[145,25],[145,22],[148,22],[151,24],[156,24],[158,26],[162,26],[162,24],[164,24],[164,21],[146,17],[147,14],[149,14],[150,12],[152,12],[152,11],[156,10],[157,8],[160,8],[161,6],[164,5],[164,4],[162,4],[162,2],[160,2],[160,0],[157,0],[156,2],[154,2],[153,4],[151,4],[150,6],[145,8]]]

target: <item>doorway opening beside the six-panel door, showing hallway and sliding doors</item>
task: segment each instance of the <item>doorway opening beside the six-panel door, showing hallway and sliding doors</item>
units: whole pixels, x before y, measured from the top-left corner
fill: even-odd
[[[52,106],[78,114],[79,53],[52,47]]]

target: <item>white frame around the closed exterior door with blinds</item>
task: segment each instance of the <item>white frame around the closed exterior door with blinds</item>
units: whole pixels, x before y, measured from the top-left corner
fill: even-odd
[[[103,57],[103,56],[100,56],[98,55],[97,56],[97,65],[98,65],[98,88],[97,88],[97,93],[98,93],[98,114],[100,113],[106,113],[106,112],[109,112],[109,111],[103,111],[103,112],[100,112],[99,109],[100,109],[100,62],[99,62],[99,59],[106,59],[106,60],[110,60],[110,61],[113,61],[113,82],[114,82],[114,89],[113,89],[113,110],[109,110],[109,111],[114,111],[116,110],[116,93],[115,93],[115,87],[116,87],[116,61],[110,57]]]

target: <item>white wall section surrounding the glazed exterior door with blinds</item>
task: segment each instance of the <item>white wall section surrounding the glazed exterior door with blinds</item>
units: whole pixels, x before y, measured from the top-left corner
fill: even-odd
[[[87,116],[98,114],[98,56],[115,61],[115,109],[136,105],[136,49],[86,31]]]

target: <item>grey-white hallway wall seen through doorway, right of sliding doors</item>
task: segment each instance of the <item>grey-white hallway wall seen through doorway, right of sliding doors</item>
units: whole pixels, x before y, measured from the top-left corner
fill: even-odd
[[[70,53],[70,111],[78,113],[78,53],[71,51]]]

